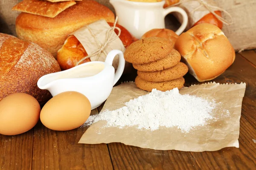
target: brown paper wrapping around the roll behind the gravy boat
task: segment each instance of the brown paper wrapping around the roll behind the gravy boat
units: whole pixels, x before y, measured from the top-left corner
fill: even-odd
[[[83,45],[85,51],[87,52],[88,56],[93,52],[97,51],[101,48],[102,45],[106,42],[107,32],[111,28],[105,20],[98,20],[94,23],[91,23],[87,26],[76,30],[70,35],[74,35],[79,42]],[[111,50],[120,50],[125,52],[125,46],[123,45],[122,41],[117,37],[116,33],[112,31],[110,39],[115,39],[109,42],[104,51],[108,54]],[[104,52],[101,52],[99,56],[94,55],[90,57],[91,61],[103,61],[105,62],[106,55]],[[113,60],[113,67],[118,67],[118,57],[115,57]]]

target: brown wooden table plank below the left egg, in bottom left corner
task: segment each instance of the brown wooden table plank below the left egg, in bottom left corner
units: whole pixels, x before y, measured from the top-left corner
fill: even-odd
[[[16,136],[0,134],[0,170],[29,170],[33,129]]]

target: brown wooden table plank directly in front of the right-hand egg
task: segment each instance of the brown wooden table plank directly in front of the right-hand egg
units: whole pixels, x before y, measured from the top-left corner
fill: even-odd
[[[97,109],[92,114],[98,113]],[[112,170],[107,144],[78,144],[87,127],[54,131],[34,128],[33,170]]]

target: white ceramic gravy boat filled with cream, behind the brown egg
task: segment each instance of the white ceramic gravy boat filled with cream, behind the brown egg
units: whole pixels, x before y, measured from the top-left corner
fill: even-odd
[[[119,57],[119,65],[115,74],[112,62],[116,55]],[[65,71],[44,75],[38,80],[37,85],[40,89],[47,89],[52,96],[65,91],[84,94],[90,100],[93,110],[108,98],[124,68],[125,59],[122,51],[112,50],[105,62],[86,62]]]

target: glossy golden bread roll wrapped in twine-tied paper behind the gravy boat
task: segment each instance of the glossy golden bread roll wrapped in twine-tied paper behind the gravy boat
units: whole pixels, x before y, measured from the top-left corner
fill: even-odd
[[[108,25],[113,27],[113,23],[108,23]],[[120,28],[121,30],[119,38],[125,48],[134,42],[134,38],[124,27],[120,26],[119,24],[116,24],[116,27]],[[115,33],[118,34],[118,30],[115,29]],[[69,68],[75,67],[76,63],[87,55],[87,52],[79,40],[77,40],[74,35],[70,35],[64,42],[64,45],[61,47],[61,49],[58,50],[57,61],[61,67],[61,70],[67,70]],[[87,58],[81,62],[81,64],[90,61],[90,58]]]

